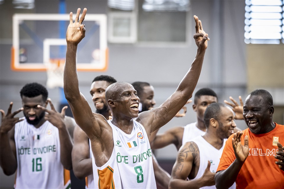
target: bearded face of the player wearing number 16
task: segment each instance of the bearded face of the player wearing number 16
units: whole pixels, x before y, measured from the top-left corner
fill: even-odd
[[[45,111],[38,108],[38,105],[43,107],[46,107],[47,105],[47,102],[43,101],[42,95],[36,97],[22,96],[22,106],[24,108],[23,113],[27,122],[35,127],[41,126],[41,124],[45,121]]]

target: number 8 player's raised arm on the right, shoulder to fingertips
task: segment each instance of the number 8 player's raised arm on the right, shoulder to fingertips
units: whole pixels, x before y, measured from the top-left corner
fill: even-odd
[[[196,34],[194,34],[197,45],[196,57],[191,64],[189,71],[185,74],[176,91],[158,108],[147,111],[147,116],[138,116],[138,122],[142,125],[151,125],[151,132],[169,122],[178,111],[185,105],[196,87],[201,67],[207,48],[208,34],[203,31],[201,21],[194,16]],[[140,119],[140,120],[139,120]],[[149,132],[149,131],[148,131]]]

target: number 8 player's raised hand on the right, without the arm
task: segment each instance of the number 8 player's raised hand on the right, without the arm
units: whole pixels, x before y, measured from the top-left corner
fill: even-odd
[[[193,38],[197,47],[205,50],[207,48],[207,40],[209,41],[210,39],[208,38],[208,34],[203,30],[201,20],[195,15],[193,17],[195,20],[195,34],[193,35]]]

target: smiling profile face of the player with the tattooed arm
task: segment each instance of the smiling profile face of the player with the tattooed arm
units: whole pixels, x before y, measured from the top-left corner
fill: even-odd
[[[234,133],[236,127],[233,110],[227,106],[221,107],[221,115],[218,123],[217,135],[220,136],[221,139],[227,139]]]

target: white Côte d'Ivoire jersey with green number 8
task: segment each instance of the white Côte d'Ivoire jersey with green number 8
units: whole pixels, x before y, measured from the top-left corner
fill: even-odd
[[[144,127],[133,120],[133,130],[126,134],[111,120],[108,123],[113,133],[112,155],[101,167],[93,162],[99,188],[156,188],[152,151]],[[94,181],[96,183],[96,177]]]

